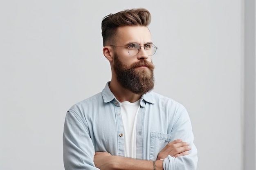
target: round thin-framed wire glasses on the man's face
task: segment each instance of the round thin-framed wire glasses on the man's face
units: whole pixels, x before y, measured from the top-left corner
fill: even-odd
[[[132,43],[129,46],[118,46],[118,47],[124,47],[128,49],[128,53],[131,56],[135,56],[139,53],[141,47],[144,48],[144,50],[146,51],[147,55],[152,56],[155,54],[155,52],[157,51],[157,47],[154,44],[144,44],[145,46],[140,46],[137,43]],[[117,45],[110,45],[110,46],[117,46]]]

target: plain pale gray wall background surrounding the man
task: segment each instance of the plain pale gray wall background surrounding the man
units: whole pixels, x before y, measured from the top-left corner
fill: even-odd
[[[255,0],[2,0],[0,170],[64,169],[67,109],[111,78],[101,19],[137,7],[152,14],[155,91],[189,111],[198,170],[255,170]]]

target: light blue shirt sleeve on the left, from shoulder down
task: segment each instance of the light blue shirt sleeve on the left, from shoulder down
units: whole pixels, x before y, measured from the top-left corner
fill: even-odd
[[[86,122],[68,111],[63,132],[63,161],[65,170],[99,170],[95,167],[94,146]]]

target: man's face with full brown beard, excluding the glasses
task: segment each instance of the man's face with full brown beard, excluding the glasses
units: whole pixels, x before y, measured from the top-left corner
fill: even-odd
[[[150,32],[144,26],[120,27],[117,39],[117,46],[131,43],[144,46],[151,42]],[[133,93],[142,95],[154,88],[154,65],[143,47],[135,56],[131,56],[126,48],[116,47],[113,68],[119,84]]]

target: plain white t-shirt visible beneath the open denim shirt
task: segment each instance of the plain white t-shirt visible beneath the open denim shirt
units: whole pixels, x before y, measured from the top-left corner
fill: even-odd
[[[125,157],[136,158],[136,123],[139,111],[139,101],[130,103],[121,102],[121,114],[124,123]]]

